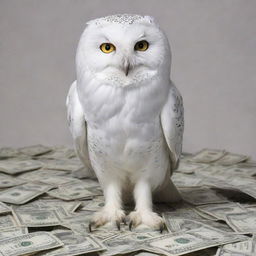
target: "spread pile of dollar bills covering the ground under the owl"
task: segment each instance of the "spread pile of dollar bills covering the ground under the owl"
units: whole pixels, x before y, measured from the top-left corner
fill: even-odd
[[[256,255],[256,162],[249,157],[183,153],[171,177],[183,201],[154,205],[162,233],[111,223],[90,232],[104,197],[83,168],[65,146],[0,149],[1,256]]]

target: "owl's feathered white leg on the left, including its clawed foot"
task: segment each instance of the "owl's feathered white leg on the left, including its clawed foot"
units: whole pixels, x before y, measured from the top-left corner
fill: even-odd
[[[92,227],[100,227],[108,222],[115,223],[120,230],[121,222],[125,222],[125,213],[122,210],[121,188],[116,183],[110,183],[104,187],[105,206],[96,212],[90,221],[89,230]]]

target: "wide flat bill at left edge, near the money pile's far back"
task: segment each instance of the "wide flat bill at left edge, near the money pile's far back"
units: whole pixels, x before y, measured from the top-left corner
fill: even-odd
[[[7,174],[18,174],[22,172],[39,169],[43,164],[36,160],[3,160],[0,161],[0,172]]]

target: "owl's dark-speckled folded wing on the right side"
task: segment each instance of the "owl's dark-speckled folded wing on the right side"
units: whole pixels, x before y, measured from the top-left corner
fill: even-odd
[[[178,89],[172,82],[170,83],[169,95],[161,111],[160,119],[165,141],[169,148],[171,169],[174,170],[178,167],[182,150],[184,109]]]

